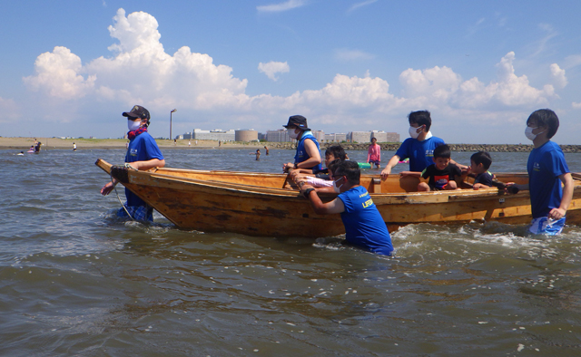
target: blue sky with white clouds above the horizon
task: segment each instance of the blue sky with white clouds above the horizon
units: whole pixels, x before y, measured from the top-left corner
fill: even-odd
[[[578,1],[0,0],[0,135],[118,138],[141,104],[155,137],[280,129],[519,143],[556,111],[578,144]]]

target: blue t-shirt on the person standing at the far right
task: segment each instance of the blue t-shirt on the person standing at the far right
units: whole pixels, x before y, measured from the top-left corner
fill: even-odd
[[[563,188],[559,176],[570,172],[563,150],[553,141],[533,149],[528,156],[527,171],[533,218],[547,217],[551,209],[561,205]]]

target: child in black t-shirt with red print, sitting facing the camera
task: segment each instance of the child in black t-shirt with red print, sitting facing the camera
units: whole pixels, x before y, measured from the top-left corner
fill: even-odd
[[[422,178],[428,178],[428,183],[420,182],[418,191],[439,191],[443,189],[457,189],[454,178],[462,176],[462,170],[450,162],[450,148],[440,145],[434,149],[434,161],[421,172]]]

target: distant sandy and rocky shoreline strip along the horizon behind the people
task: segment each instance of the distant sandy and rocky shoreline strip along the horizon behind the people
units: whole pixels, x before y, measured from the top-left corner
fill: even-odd
[[[126,139],[60,139],[60,138],[35,138],[43,143],[43,150],[73,150],[73,143],[77,150],[103,150],[103,149],[125,149]],[[291,142],[241,142],[223,141],[220,145],[218,140],[156,140],[160,148],[167,149],[262,149],[264,146],[269,149],[294,150],[295,143]],[[26,151],[34,144],[34,138],[4,138],[0,137],[0,149]],[[335,143],[322,143],[321,150],[328,148]],[[381,150],[398,150],[401,143],[379,143]],[[488,152],[528,152],[533,149],[532,145],[524,144],[448,144],[452,151],[488,151]],[[341,143],[345,150],[368,150],[369,143],[351,144]],[[564,152],[581,152],[581,145],[561,145]]]

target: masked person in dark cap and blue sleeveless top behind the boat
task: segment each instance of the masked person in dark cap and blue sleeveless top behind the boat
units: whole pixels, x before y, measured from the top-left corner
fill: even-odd
[[[294,162],[282,165],[283,172],[291,172],[292,169],[320,170],[320,146],[319,141],[312,135],[307,126],[307,118],[302,115],[293,115],[287,125],[283,125],[292,139],[299,141]]]

